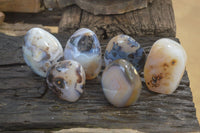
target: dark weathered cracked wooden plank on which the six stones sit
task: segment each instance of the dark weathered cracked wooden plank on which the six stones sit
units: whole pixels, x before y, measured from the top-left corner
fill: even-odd
[[[66,35],[56,37],[64,47]],[[159,39],[134,38],[146,53]],[[107,42],[101,41],[103,51]],[[58,99],[47,88],[45,79],[35,75],[24,63],[22,44],[23,37],[0,34],[0,131],[75,127],[130,128],[141,132],[199,131],[187,72],[171,95],[148,91],[141,73],[141,96],[128,108],[115,108],[106,101],[100,83],[101,73],[98,78],[86,82],[78,102],[69,103]]]

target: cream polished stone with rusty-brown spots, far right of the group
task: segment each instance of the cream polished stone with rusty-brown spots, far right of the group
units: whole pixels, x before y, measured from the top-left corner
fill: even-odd
[[[144,67],[147,87],[157,93],[173,93],[183,76],[186,60],[186,52],[179,43],[167,38],[156,41]]]

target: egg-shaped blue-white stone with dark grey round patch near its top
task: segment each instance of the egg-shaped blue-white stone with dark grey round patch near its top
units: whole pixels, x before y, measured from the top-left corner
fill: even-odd
[[[101,70],[101,47],[96,34],[87,29],[77,30],[67,41],[64,58],[78,61],[84,68],[86,79],[94,79]]]

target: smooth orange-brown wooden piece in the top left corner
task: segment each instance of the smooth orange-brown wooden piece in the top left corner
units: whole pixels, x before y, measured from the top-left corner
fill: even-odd
[[[42,10],[40,0],[1,0],[0,11],[37,13]]]

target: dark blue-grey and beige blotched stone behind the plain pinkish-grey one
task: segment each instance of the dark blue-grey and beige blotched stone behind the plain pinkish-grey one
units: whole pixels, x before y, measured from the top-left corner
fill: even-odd
[[[140,44],[128,35],[117,35],[107,44],[104,61],[108,65],[117,59],[125,59],[133,64],[137,71],[143,70],[145,54]]]

